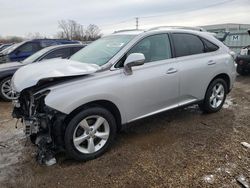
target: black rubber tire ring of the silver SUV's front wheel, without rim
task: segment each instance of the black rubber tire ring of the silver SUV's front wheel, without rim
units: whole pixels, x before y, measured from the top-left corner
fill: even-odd
[[[110,135],[109,135],[107,142],[100,150],[92,154],[84,154],[75,148],[73,144],[73,134],[77,125],[80,123],[80,121],[91,115],[100,115],[108,121],[109,128],[110,128]],[[64,136],[66,153],[71,158],[78,160],[78,161],[87,161],[87,160],[95,159],[109,149],[110,145],[114,141],[115,136],[116,136],[115,118],[108,110],[102,107],[86,108],[85,110],[79,112],[76,116],[74,116],[69,122],[68,126],[66,127],[65,136]]]

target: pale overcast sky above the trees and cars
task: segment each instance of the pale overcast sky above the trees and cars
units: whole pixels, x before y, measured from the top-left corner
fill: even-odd
[[[102,33],[158,25],[250,24],[250,0],[0,0],[0,36],[53,36],[58,21],[98,25]]]

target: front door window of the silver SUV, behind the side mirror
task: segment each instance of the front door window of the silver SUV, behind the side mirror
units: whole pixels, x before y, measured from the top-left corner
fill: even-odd
[[[131,53],[144,54],[145,63],[170,59],[172,57],[167,34],[157,34],[142,39],[122,57],[115,67],[123,67],[126,58]]]

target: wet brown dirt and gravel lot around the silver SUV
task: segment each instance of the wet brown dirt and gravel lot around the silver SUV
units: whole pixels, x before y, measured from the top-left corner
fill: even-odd
[[[197,106],[133,123],[102,157],[77,163],[57,156],[39,166],[22,126],[0,102],[0,187],[240,187],[250,181],[250,76],[238,77],[223,109]]]

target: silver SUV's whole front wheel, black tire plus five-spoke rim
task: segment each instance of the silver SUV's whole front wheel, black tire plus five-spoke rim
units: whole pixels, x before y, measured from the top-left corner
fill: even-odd
[[[115,118],[108,110],[102,107],[87,108],[74,116],[66,127],[66,153],[77,161],[95,159],[112,145],[116,129]]]

